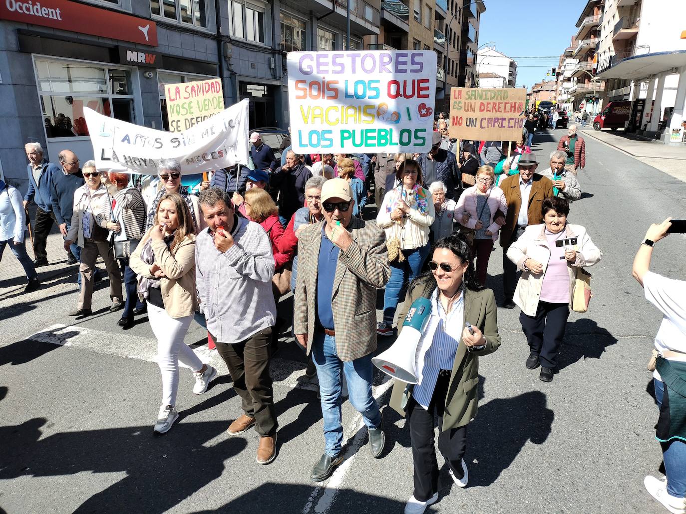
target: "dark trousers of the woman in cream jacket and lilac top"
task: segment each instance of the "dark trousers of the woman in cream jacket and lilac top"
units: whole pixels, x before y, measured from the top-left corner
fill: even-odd
[[[531,348],[538,355],[541,366],[554,369],[557,356],[565,339],[565,328],[569,317],[569,304],[549,304],[539,302],[535,316],[519,314],[521,329]]]

